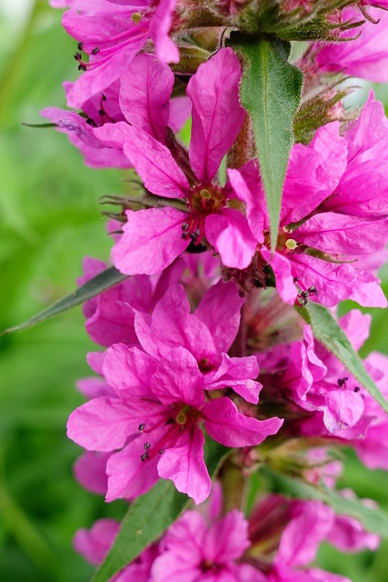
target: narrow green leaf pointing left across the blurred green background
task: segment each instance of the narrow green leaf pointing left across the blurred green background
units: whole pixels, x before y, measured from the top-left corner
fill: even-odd
[[[60,313],[63,313],[72,307],[79,306],[81,303],[85,303],[85,301],[88,299],[103,293],[103,291],[109,289],[117,283],[121,283],[121,281],[124,281],[126,278],[127,275],[123,275],[123,273],[117,271],[114,266],[111,266],[108,269],[105,269],[102,273],[99,273],[93,277],[93,279],[87,281],[85,285],[76,289],[74,293],[63,297],[53,306],[48,307],[45,309],[45,311],[42,311],[28,321],[25,321],[25,323],[20,324],[20,326],[9,327],[8,329],[5,329],[3,334],[10,334],[14,331],[20,331],[21,329],[25,329],[25,327],[35,326],[36,324],[40,324],[46,319],[58,316]]]

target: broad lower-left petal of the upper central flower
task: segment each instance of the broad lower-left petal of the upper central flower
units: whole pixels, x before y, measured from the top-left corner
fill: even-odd
[[[112,250],[114,266],[126,275],[163,271],[190,242],[182,238],[184,216],[175,208],[127,210],[124,235]]]

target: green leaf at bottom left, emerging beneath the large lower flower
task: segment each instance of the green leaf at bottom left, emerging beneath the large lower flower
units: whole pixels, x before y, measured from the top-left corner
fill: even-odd
[[[205,463],[210,477],[229,454],[230,449],[209,441],[205,445]],[[96,570],[92,582],[107,582],[160,537],[190,503],[190,498],[179,493],[174,483],[160,479],[154,487],[137,497],[129,507],[120,531],[103,564]]]

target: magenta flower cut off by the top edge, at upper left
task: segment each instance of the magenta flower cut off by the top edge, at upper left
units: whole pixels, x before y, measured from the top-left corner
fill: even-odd
[[[177,63],[179,50],[168,36],[173,22],[175,0],[156,4],[75,0],[65,12],[62,24],[78,41],[75,58],[84,74],[67,94],[67,105],[82,107],[87,99],[101,94],[123,75],[128,65],[148,39],[152,38],[156,57],[165,63]],[[89,55],[83,61],[81,52]]]

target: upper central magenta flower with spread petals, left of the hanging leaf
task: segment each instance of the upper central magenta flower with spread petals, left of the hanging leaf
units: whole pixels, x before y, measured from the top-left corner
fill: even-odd
[[[95,128],[101,143],[123,148],[150,192],[183,198],[187,205],[186,212],[174,207],[126,212],[124,235],[112,253],[114,266],[123,273],[158,273],[204,236],[225,266],[250,264],[257,240],[237,209],[242,206],[236,199],[239,190],[222,188],[214,179],[244,122],[240,77],[240,63],[230,48],[199,66],[187,85],[193,104],[189,160],[182,148],[174,147],[180,165],[163,143],[137,127],[118,123]]]

